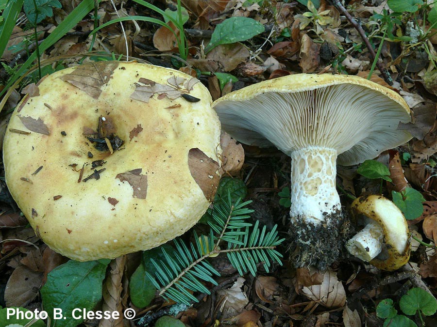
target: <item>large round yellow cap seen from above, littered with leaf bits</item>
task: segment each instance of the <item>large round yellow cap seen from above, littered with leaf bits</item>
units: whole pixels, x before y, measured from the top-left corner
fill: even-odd
[[[78,261],[183,234],[220,178],[220,124],[198,79],[138,62],[43,78],[8,125],[6,182],[35,233]]]

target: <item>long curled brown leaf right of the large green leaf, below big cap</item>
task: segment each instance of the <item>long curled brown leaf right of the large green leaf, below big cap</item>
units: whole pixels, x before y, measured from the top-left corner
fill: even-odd
[[[123,327],[123,305],[121,303],[121,291],[123,272],[126,265],[126,256],[123,255],[111,261],[110,270],[103,284],[103,301],[101,304],[102,311],[118,311],[118,319],[101,319],[99,327]]]

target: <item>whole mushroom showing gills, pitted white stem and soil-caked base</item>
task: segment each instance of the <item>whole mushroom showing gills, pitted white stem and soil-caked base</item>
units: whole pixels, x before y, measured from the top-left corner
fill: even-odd
[[[228,93],[213,103],[222,128],[249,145],[291,156],[291,235],[295,265],[334,262],[342,240],[336,163],[354,165],[411,139],[396,92],[347,75],[297,74]]]

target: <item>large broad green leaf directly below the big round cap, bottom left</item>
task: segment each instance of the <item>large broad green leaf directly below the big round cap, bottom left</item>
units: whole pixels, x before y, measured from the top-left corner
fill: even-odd
[[[101,300],[106,266],[98,261],[70,260],[49,273],[46,284],[41,288],[41,296],[53,327],[74,327],[83,322],[83,319],[74,319],[72,311],[76,308],[93,310]],[[55,308],[62,310],[65,319],[53,319]]]

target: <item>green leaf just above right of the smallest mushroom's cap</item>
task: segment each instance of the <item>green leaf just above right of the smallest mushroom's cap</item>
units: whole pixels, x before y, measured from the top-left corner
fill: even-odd
[[[425,201],[419,191],[406,187],[402,192],[391,191],[394,204],[401,209],[405,219],[412,220],[423,213],[422,202]]]

